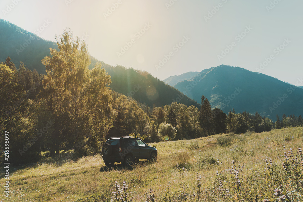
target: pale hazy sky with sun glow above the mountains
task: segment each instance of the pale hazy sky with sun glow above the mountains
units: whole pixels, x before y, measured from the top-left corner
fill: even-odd
[[[296,84],[302,7],[301,0],[1,0],[0,18],[51,41],[71,28],[98,60],[160,79],[225,64]]]

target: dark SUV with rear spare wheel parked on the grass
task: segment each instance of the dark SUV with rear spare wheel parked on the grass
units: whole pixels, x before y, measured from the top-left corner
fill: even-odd
[[[107,167],[115,162],[126,166],[132,165],[139,159],[147,159],[151,162],[157,161],[157,149],[148,146],[138,137],[111,137],[102,148],[102,158]]]

